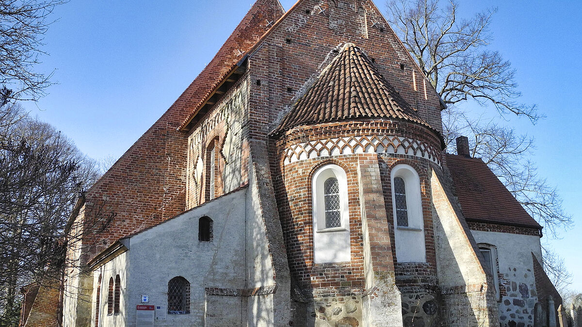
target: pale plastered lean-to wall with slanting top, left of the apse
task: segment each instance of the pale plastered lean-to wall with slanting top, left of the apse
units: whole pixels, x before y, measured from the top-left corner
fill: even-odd
[[[136,324],[141,295],[150,298],[149,305],[168,304],[168,281],[175,276],[190,282],[190,314],[168,314],[166,321],[156,321],[155,326],[247,325],[247,321],[250,326],[269,325],[272,314],[259,318],[249,312],[254,318],[251,321],[247,310],[272,312],[272,294],[247,298],[207,296],[205,292],[206,287],[242,290],[274,284],[264,223],[253,207],[249,189],[207,202],[130,238],[128,326]],[[198,241],[202,216],[213,221],[210,242]]]

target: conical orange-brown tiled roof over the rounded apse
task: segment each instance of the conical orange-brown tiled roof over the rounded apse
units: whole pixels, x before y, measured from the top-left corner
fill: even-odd
[[[347,43],[273,133],[301,125],[362,118],[403,119],[433,129],[384,80],[361,49]]]

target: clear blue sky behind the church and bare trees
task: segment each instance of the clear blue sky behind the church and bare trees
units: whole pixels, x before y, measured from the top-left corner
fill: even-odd
[[[39,67],[55,70],[58,84],[37,104],[24,105],[91,157],[119,157],[210,62],[252,2],[72,0],[55,10],[60,19],[45,37],[49,55]],[[285,9],[293,3],[282,1]],[[383,0],[376,3],[384,9]],[[508,124],[535,137],[540,174],[559,187],[564,207],[579,221],[582,3],[460,4],[461,15],[498,7],[491,49],[517,69],[523,102],[538,104],[547,116],[535,126],[521,119]],[[580,235],[582,223],[550,243],[574,274],[572,288],[582,292]]]

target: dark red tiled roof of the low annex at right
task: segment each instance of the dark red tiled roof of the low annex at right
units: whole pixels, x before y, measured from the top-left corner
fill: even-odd
[[[481,159],[447,154],[446,165],[467,221],[541,229]]]

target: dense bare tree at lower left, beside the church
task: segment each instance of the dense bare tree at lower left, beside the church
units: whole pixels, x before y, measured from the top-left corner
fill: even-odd
[[[109,211],[90,221],[70,219],[83,190],[98,176],[95,162],[52,126],[6,105],[5,116],[13,123],[0,129],[2,326],[13,324],[20,287],[59,280],[62,269],[74,264],[65,262],[69,244],[104,230],[113,218]]]

